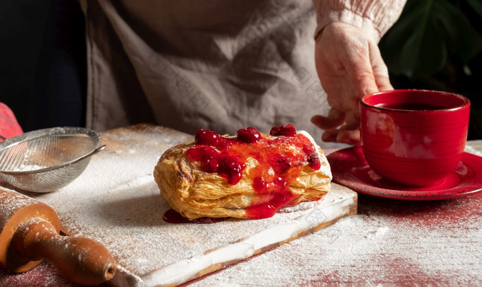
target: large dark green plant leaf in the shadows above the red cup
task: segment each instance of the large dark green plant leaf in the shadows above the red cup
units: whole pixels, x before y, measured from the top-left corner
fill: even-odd
[[[482,36],[447,0],[409,0],[380,50],[391,72],[422,78],[439,72],[453,56],[468,63],[482,50]]]

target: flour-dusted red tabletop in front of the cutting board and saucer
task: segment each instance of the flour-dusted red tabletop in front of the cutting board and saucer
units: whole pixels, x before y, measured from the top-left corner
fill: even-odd
[[[355,217],[189,286],[482,286],[481,204],[360,194]]]

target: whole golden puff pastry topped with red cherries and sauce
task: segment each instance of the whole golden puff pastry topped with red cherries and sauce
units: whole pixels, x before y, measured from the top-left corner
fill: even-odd
[[[200,129],[195,142],[165,151],[154,178],[171,209],[189,220],[260,219],[322,198],[331,171],[309,134],[283,125],[270,134],[247,127],[236,136]]]

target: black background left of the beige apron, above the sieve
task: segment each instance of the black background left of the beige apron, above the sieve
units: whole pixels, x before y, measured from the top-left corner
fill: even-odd
[[[77,1],[0,1],[0,102],[24,131],[85,125],[85,66]]]

